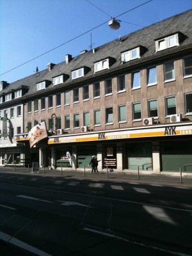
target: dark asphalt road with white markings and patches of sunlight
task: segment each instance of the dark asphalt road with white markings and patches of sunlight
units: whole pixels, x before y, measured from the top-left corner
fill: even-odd
[[[192,255],[191,192],[0,173],[0,239],[29,255]]]

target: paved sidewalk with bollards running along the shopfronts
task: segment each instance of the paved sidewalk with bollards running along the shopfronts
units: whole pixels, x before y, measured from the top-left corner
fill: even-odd
[[[49,170],[49,168],[39,168],[38,171],[33,171],[31,168],[22,167],[0,167],[0,173],[23,173],[25,175],[40,175],[54,177],[68,177],[72,179],[97,179],[109,182],[137,182],[143,184],[162,184],[166,186],[185,186],[192,188],[192,176],[182,173],[182,179],[179,172],[172,174],[154,174],[150,172],[103,172],[92,173],[90,170]]]

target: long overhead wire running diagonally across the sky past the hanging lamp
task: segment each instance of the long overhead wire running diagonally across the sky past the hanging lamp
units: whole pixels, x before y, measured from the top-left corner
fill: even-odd
[[[86,1],[88,1],[88,0],[86,0]],[[153,0],[149,0],[149,1],[145,2],[145,3],[143,3],[143,4],[140,4],[140,5],[138,5],[138,6],[134,7],[134,8],[132,8],[131,10],[128,10],[127,12],[131,12],[132,10],[135,10],[136,8],[139,8],[140,6],[143,6],[144,4],[147,4],[147,3],[151,2],[151,1],[153,1]],[[88,1],[88,2],[89,2],[89,1]],[[89,3],[90,3],[90,2],[89,2]],[[103,11],[102,11],[102,12],[103,12]],[[120,17],[120,16],[124,15],[124,14],[127,13],[127,12],[124,12],[124,13],[119,14],[118,16],[115,17],[115,19],[116,19],[117,17]],[[106,13],[106,14],[107,14],[107,13]],[[108,14],[107,14],[107,15],[108,15]],[[89,29],[88,31],[86,31],[86,32],[84,32],[84,33],[82,33],[82,34],[80,34],[80,35],[78,35],[78,36],[75,36],[74,38],[68,40],[67,42],[64,42],[63,44],[60,44],[60,45],[58,45],[58,46],[52,48],[51,50],[46,51],[46,52],[44,52],[44,53],[42,53],[42,54],[36,56],[35,58],[32,58],[31,60],[28,60],[28,61],[26,61],[26,62],[24,62],[24,63],[18,65],[17,67],[11,68],[10,70],[8,70],[8,71],[6,71],[6,72],[0,74],[0,76],[3,76],[4,74],[7,74],[8,72],[11,72],[12,70],[15,70],[16,68],[19,68],[19,67],[22,67],[23,65],[26,65],[27,63],[29,63],[29,62],[31,62],[31,61],[33,61],[33,60],[36,60],[37,58],[40,58],[40,57],[44,56],[45,54],[47,54],[47,53],[49,53],[49,52],[51,52],[51,51],[54,51],[55,49],[58,49],[59,47],[65,45],[65,44],[68,44],[69,42],[72,42],[73,40],[76,40],[77,38],[79,38],[79,37],[81,37],[81,36],[83,36],[83,35],[89,33],[90,31],[93,31],[94,29],[99,28],[100,26],[102,26],[102,25],[104,25],[104,24],[106,24],[106,23],[108,23],[108,20],[107,20],[106,22],[103,22],[102,24],[100,24],[100,25],[98,25],[98,26],[92,28],[92,29]]]

